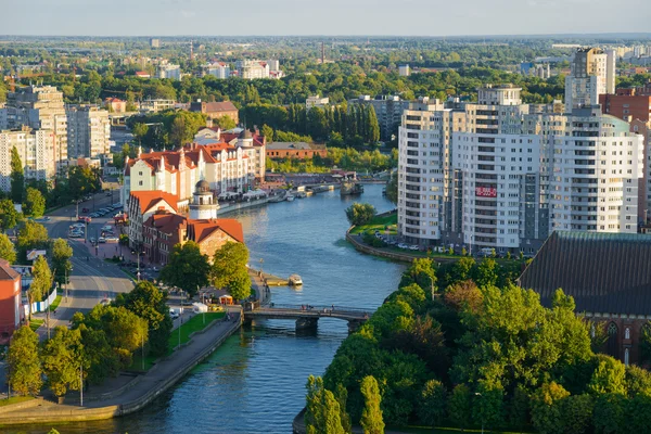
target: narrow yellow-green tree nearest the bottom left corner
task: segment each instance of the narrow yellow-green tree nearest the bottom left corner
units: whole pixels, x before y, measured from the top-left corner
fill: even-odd
[[[18,395],[36,395],[43,384],[38,354],[38,335],[23,326],[12,336],[7,355],[8,381]]]

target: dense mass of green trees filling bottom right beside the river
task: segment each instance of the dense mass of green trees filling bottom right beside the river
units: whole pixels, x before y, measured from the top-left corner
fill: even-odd
[[[356,423],[368,413],[360,384],[373,375],[391,425],[624,433],[629,418],[643,431],[649,372],[595,354],[572,297],[558,290],[544,307],[512,283],[521,264],[414,260],[398,291],[343,342],[326,390],[346,388]]]

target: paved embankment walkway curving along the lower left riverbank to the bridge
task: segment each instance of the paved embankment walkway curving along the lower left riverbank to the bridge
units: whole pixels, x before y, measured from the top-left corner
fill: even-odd
[[[84,407],[73,404],[60,405],[44,399],[35,400],[36,404],[28,408],[0,407],[0,426],[93,421],[139,411],[181,380],[240,329],[241,310],[232,310],[231,314],[232,321],[213,321],[206,329],[195,332],[181,349],[158,360],[146,373],[137,375],[113,393],[105,394],[105,399],[92,400],[92,396],[87,396]]]

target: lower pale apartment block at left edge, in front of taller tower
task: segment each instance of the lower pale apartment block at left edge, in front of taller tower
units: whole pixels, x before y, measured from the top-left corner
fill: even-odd
[[[56,175],[54,132],[23,126],[18,130],[0,130],[0,190],[11,190],[11,152],[21,156],[25,179],[49,180]]]

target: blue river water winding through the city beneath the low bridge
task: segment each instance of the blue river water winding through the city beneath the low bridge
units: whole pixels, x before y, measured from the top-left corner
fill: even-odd
[[[375,308],[397,288],[405,267],[357,253],[344,239],[344,210],[355,201],[371,203],[378,212],[392,209],[382,188],[365,186],[359,199],[326,192],[226,217],[242,222],[252,266],[259,267],[263,259],[267,272],[303,278],[301,290],[272,288],[273,303]],[[334,319],[321,319],[316,332],[301,333],[293,321],[258,321],[242,328],[143,411],[56,429],[61,434],[291,433],[292,420],[305,404],[307,376],[323,373],[346,335],[347,323]]]

